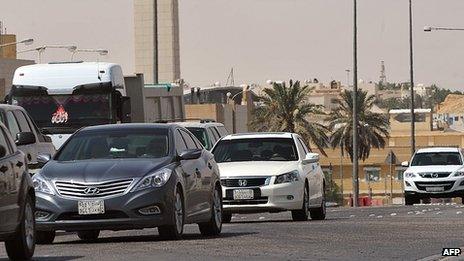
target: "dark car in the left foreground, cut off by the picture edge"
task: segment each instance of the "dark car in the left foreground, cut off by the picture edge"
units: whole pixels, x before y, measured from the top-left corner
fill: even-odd
[[[34,142],[33,134],[21,132],[13,141],[0,123],[0,241],[11,259],[29,259],[35,249],[35,193],[26,155],[16,146]]]

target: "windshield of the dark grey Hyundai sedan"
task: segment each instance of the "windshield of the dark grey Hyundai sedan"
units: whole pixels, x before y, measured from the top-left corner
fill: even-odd
[[[168,154],[168,130],[124,130],[77,134],[55,159],[162,158]]]

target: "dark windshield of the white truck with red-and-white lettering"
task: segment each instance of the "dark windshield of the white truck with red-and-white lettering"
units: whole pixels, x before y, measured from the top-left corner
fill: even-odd
[[[111,123],[110,94],[14,96],[39,128],[54,130]]]

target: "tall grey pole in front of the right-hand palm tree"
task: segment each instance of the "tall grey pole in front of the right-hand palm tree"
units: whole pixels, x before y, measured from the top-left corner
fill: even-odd
[[[353,0],[353,206],[358,207],[358,25],[357,1]]]

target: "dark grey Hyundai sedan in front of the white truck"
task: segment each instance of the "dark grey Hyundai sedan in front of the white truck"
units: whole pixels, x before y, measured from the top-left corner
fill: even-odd
[[[113,124],[77,131],[33,176],[37,241],[56,230],[95,240],[100,230],[157,227],[178,239],[186,223],[204,235],[222,228],[213,155],[174,124]]]

